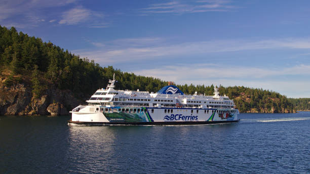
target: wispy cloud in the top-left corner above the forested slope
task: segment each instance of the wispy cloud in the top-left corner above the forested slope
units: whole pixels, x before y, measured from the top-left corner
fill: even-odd
[[[78,5],[76,0],[32,0],[32,1],[6,1],[0,6],[0,22],[5,26],[15,27],[35,27],[42,22],[61,25],[76,25],[83,23],[90,28],[105,28],[109,25],[104,21],[104,15]],[[73,8],[59,12],[58,7]],[[75,6],[75,7],[74,7]],[[55,10],[51,10],[54,8]],[[57,9],[56,9],[57,8]],[[55,11],[54,13],[45,13],[45,10]],[[12,22],[14,21],[14,22]]]

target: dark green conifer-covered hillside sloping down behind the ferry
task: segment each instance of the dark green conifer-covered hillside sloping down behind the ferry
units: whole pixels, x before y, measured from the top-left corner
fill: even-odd
[[[78,55],[55,46],[52,42],[43,42],[41,38],[30,37],[22,32],[17,32],[14,27],[8,29],[0,26],[0,56],[2,74],[0,83],[3,89],[7,88],[8,91],[14,86],[16,88],[17,84],[23,84],[26,89],[30,89],[31,101],[34,99],[42,100],[43,96],[49,97],[49,95],[54,94],[55,90],[49,93],[50,89],[67,90],[67,92],[72,93],[74,98],[66,100],[79,99],[84,101],[97,89],[105,88],[113,73],[118,80],[116,89],[139,89],[140,91],[157,92],[164,85],[167,85],[166,81],[158,78],[137,76],[133,73],[114,69],[112,66],[101,67],[93,60],[80,58]],[[213,95],[213,85],[185,84],[177,86],[185,94],[194,94],[197,91],[199,94]],[[234,99],[241,112],[293,112],[292,102],[276,92],[250,89],[244,86],[227,88],[219,86],[219,92],[221,95],[226,94]],[[5,93],[4,90],[2,95]],[[49,102],[61,103],[58,99],[55,101],[54,98],[52,97]],[[7,101],[8,99],[5,96],[0,96],[0,100]],[[31,101],[29,102],[31,103]],[[10,105],[14,105],[14,102],[16,101],[3,102],[4,104],[0,106],[0,109],[1,107],[2,110],[8,109],[11,107]],[[25,103],[22,106],[24,105],[27,107],[30,104]],[[64,105],[67,110],[74,107],[73,104]],[[1,113],[5,114],[6,112]],[[19,109],[19,111],[11,113],[24,114],[25,112]]]

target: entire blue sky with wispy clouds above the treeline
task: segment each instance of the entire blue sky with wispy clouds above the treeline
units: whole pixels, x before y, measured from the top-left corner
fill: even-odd
[[[0,0],[0,25],[176,84],[310,98],[310,1]]]

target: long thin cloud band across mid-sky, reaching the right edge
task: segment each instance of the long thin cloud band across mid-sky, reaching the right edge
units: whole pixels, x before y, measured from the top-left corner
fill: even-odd
[[[76,50],[81,56],[99,62],[118,62],[127,60],[148,60],[154,57],[183,56],[206,53],[236,52],[262,49],[310,49],[310,38],[286,38],[267,40],[210,40],[168,44],[162,38],[118,39],[93,44],[103,48],[95,50]]]

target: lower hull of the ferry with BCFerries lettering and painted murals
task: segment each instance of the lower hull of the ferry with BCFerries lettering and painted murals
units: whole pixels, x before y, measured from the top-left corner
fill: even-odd
[[[216,124],[239,121],[237,109],[86,106],[71,113],[69,123],[90,125]]]

